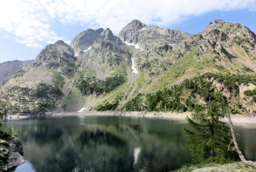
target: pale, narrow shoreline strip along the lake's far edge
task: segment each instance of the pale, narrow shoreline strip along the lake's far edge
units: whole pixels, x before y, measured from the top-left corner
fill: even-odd
[[[113,111],[84,111],[84,112],[60,112],[53,113],[35,113],[35,114],[6,114],[4,120],[20,120],[26,118],[45,118],[50,116],[130,116],[130,117],[145,117],[145,118],[157,118],[157,119],[174,119],[186,121],[186,117],[191,117],[191,112],[177,113],[177,112],[113,112]],[[243,116],[243,115],[231,115],[233,123],[241,124],[256,124],[256,116]],[[226,117],[223,118],[224,122],[228,122]],[[256,125],[255,125],[256,127]]]

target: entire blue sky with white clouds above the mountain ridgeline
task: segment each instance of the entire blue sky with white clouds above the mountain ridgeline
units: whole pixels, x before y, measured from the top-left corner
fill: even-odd
[[[118,35],[133,19],[148,26],[158,25],[195,34],[202,32],[209,21],[218,18],[240,22],[256,32],[254,0],[146,2],[149,1],[1,2],[0,62],[35,59],[47,44],[60,39],[69,43],[88,28],[108,27]]]

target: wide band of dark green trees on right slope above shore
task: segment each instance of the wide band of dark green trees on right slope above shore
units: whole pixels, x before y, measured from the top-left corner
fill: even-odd
[[[171,88],[165,88],[147,95],[137,95],[123,106],[123,110],[193,111],[198,106],[198,100],[210,100],[211,93],[216,91],[213,87],[214,81],[223,84],[229,92],[233,92],[242,83],[256,84],[256,75],[205,73],[192,79],[187,79],[181,84],[173,85]],[[235,96],[237,96],[237,93]],[[142,97],[145,97],[145,99]],[[236,107],[238,110],[243,108],[239,103]],[[233,112],[235,113],[235,111]]]

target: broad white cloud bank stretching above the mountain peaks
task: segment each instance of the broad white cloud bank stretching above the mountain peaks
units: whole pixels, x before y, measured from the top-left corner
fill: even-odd
[[[53,43],[63,36],[53,24],[109,27],[115,34],[133,19],[167,27],[190,15],[214,10],[256,9],[255,0],[9,0],[0,3],[0,29],[27,46]],[[69,42],[68,42],[69,43]]]

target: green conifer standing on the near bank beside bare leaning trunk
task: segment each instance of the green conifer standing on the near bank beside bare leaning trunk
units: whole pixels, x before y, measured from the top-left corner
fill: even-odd
[[[205,105],[195,108],[192,118],[187,117],[187,146],[195,163],[228,162],[234,153],[229,148],[232,140],[230,129],[221,121],[225,114],[225,105],[221,103],[223,96],[218,92],[211,93],[208,98]]]

